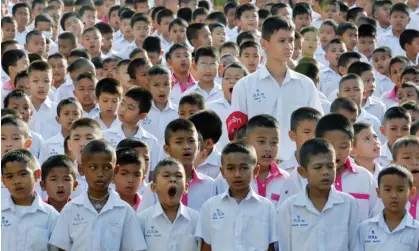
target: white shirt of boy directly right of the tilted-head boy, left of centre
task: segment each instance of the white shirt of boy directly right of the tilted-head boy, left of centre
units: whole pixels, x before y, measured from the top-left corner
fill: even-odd
[[[164,130],[167,125],[179,117],[177,105],[170,100],[167,101],[166,107],[163,111],[157,108],[155,102],[151,103],[151,109],[147,114],[147,118],[141,121],[141,126],[152,135],[154,135],[158,142],[164,141]]]

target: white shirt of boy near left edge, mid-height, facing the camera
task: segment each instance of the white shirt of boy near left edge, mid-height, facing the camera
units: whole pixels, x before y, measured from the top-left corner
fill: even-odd
[[[30,104],[33,111],[32,119],[29,121],[29,128],[40,134],[44,140],[51,138],[60,132],[61,127],[58,125],[55,117],[57,115],[57,103],[51,101],[48,97],[36,110]]]

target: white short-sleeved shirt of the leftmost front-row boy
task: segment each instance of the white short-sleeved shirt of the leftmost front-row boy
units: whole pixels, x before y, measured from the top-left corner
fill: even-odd
[[[59,213],[38,195],[28,207],[10,196],[1,204],[1,250],[47,250]]]

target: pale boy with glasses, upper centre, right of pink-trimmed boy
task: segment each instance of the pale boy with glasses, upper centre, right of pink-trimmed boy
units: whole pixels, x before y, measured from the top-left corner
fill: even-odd
[[[218,55],[214,47],[203,46],[195,51],[194,69],[198,74],[198,84],[186,90],[182,96],[196,92],[201,94],[206,102],[222,97],[222,88],[214,79],[217,76]]]

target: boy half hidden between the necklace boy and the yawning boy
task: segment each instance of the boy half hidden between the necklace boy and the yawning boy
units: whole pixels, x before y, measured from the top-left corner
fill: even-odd
[[[120,149],[117,151],[115,175],[113,183],[115,191],[121,200],[128,203],[138,212],[141,195],[138,190],[145,178],[144,159],[132,149]]]

